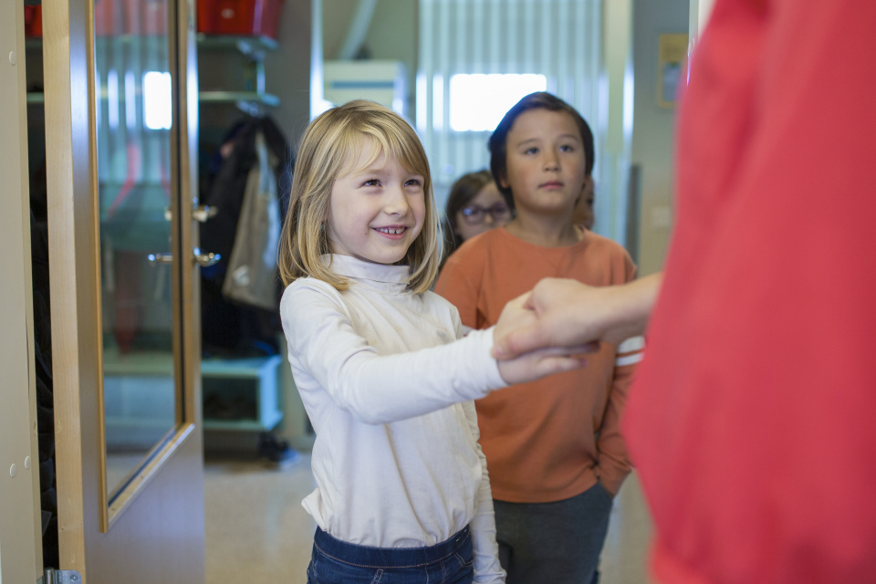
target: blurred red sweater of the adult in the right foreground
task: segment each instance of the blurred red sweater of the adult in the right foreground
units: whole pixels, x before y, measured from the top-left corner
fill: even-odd
[[[876,581],[876,2],[717,0],[624,429],[662,584]]]

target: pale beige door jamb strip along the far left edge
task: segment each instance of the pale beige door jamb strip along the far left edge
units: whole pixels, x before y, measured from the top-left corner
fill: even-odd
[[[0,3],[0,580],[42,576],[24,6]]]

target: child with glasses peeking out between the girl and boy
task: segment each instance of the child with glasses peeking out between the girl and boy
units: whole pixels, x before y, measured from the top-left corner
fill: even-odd
[[[444,208],[444,261],[464,241],[507,224],[511,217],[511,207],[499,193],[491,172],[469,172],[459,177],[450,188]]]

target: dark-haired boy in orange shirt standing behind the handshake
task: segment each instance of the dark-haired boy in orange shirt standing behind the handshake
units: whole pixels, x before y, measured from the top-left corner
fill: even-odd
[[[528,95],[489,147],[516,217],[466,241],[443,267],[435,291],[464,325],[494,325],[506,302],[543,277],[591,286],[633,279],[620,245],[573,221],[593,168],[593,135],[578,111],[548,93]],[[612,497],[631,470],[619,420],[641,348],[641,338],[603,344],[584,369],[475,402],[508,584],[598,581]]]

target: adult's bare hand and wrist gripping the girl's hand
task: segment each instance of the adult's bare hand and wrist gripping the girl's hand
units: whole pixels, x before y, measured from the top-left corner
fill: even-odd
[[[545,278],[528,297],[518,298],[536,318],[519,318],[515,327],[497,328],[493,356],[514,359],[538,349],[573,348],[599,341],[619,343],[640,335],[661,285],[662,274],[610,287]]]

